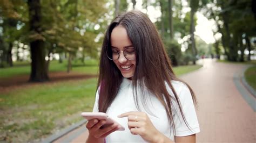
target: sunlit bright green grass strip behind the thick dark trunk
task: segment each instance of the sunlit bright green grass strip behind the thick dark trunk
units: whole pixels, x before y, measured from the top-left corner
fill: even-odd
[[[59,63],[58,61],[51,61],[49,66],[49,71],[66,71],[67,61]],[[86,73],[86,74],[97,74],[98,61],[97,60],[87,60],[85,65],[80,61],[72,62],[72,70]],[[14,67],[0,68],[0,78],[8,78],[19,75],[29,75],[30,74],[30,63],[29,62],[14,62]]]

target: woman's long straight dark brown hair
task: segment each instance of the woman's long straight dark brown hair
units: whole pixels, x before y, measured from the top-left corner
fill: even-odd
[[[181,80],[179,80],[173,73],[171,61],[165,52],[163,42],[161,41],[156,27],[151,20],[140,11],[122,13],[117,16],[107,28],[99,63],[99,78],[97,85],[99,90],[99,112],[107,111],[113,99],[116,97],[123,79],[117,66],[113,61],[109,60],[106,55],[107,51],[111,50],[111,32],[113,28],[118,25],[122,25],[126,29],[127,35],[136,50],[136,69],[132,77],[132,84],[134,85],[133,87],[136,88],[133,90],[136,91],[136,94],[133,96],[137,108],[139,108],[137,87],[141,89],[140,91],[145,91],[144,89],[146,88],[164,105],[169,124],[172,125],[174,132],[175,125],[173,122],[173,111],[171,110],[174,101],[178,103],[181,115],[188,126],[183,111],[181,110],[181,104],[177,93],[171,84],[172,80]],[[181,82],[185,83],[184,81]],[[171,88],[175,98],[172,98],[167,91],[166,83]],[[197,104],[192,89],[187,83],[185,84],[190,89],[194,104]],[[147,94],[142,92],[141,96],[145,99],[143,100],[144,102],[147,99],[146,95]],[[143,105],[146,105],[146,103]]]

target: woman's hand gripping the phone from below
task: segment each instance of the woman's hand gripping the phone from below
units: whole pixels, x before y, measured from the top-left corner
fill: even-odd
[[[86,142],[104,142],[104,138],[114,131],[118,130],[117,124],[110,124],[104,128],[106,120],[91,119],[87,122],[86,128],[89,131],[89,137]]]

